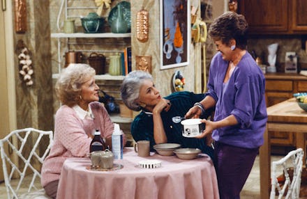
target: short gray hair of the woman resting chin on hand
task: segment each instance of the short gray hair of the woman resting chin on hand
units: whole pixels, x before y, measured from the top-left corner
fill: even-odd
[[[142,70],[130,72],[121,83],[121,100],[129,109],[140,111],[141,106],[137,103],[140,88],[145,79],[153,81],[151,74]]]

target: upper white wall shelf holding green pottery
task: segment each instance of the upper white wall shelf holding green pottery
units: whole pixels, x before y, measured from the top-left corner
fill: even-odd
[[[52,38],[130,38],[131,33],[51,33]]]

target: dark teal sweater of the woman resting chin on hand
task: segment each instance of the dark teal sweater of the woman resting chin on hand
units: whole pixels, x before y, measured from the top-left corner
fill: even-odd
[[[170,100],[172,106],[169,111],[163,111],[161,113],[161,118],[167,136],[167,143],[179,143],[181,144],[181,148],[199,148],[212,158],[213,149],[205,144],[205,138],[186,138],[182,136],[182,125],[180,122],[178,124],[172,122],[172,117],[184,117],[186,112],[196,102],[203,100],[204,97],[204,94],[195,94],[187,91],[172,93],[165,97],[165,99]],[[202,118],[208,118],[211,115],[211,111],[212,109],[206,110],[205,116],[202,116]],[[153,150],[153,145],[156,143],[153,139],[152,115],[144,113],[144,111],[137,115],[131,124],[131,134],[135,141],[150,141],[151,150]]]

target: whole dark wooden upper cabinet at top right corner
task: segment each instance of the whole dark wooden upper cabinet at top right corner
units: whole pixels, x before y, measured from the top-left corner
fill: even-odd
[[[239,1],[238,12],[246,17],[250,35],[307,33],[307,1]]]

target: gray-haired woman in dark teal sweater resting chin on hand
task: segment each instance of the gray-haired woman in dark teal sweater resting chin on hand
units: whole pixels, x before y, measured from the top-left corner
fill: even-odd
[[[186,91],[161,97],[151,74],[140,70],[130,72],[121,85],[123,103],[133,111],[141,111],[131,124],[131,134],[135,141],[150,141],[151,150],[155,144],[179,143],[182,148],[199,148],[211,157],[213,149],[209,138],[186,138],[182,136],[180,122],[172,122],[172,117],[184,117],[204,97],[205,94]],[[208,118],[211,110],[206,110],[202,118]]]

